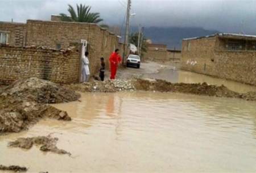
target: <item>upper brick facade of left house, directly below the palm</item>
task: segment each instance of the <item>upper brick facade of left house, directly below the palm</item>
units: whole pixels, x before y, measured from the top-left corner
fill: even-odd
[[[93,24],[27,20],[26,45],[67,49],[70,44],[88,40]]]

